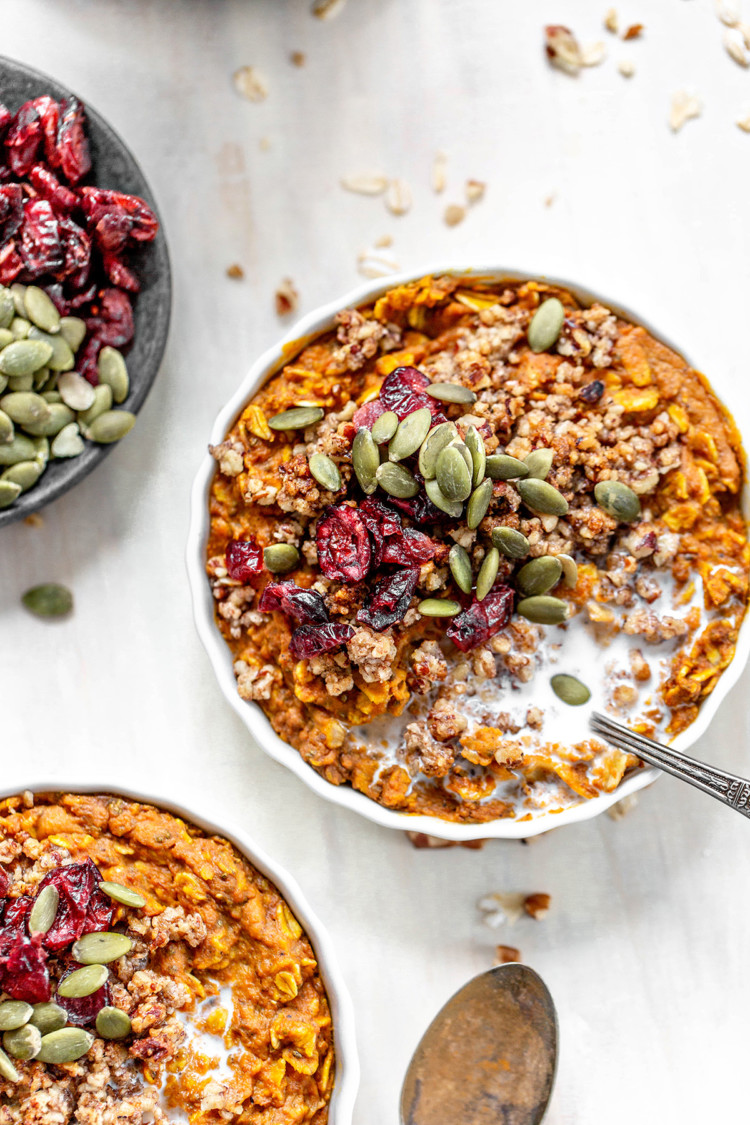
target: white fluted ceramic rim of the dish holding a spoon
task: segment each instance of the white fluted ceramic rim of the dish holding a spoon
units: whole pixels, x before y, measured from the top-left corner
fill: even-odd
[[[214,423],[210,442],[218,444],[224,441],[224,436],[232,426],[234,420],[240,414],[249,398],[270,378],[283,363],[289,361],[290,354],[299,350],[307,339],[316,336],[332,327],[333,318],[342,308],[358,307],[376,300],[387,289],[397,285],[413,281],[427,274],[458,274],[466,278],[489,278],[490,280],[544,280],[553,285],[562,286],[573,292],[584,303],[598,300],[608,308],[617,312],[629,321],[642,324],[656,339],[662,341],[667,346],[685,356],[685,352],[676,344],[670,343],[663,333],[651,327],[649,322],[639,313],[620,302],[609,300],[602,294],[594,292],[576,281],[563,278],[549,277],[543,271],[530,272],[527,270],[516,270],[510,268],[488,266],[488,267],[462,267],[445,266],[427,267],[423,270],[410,270],[409,272],[392,274],[387,278],[379,278],[377,281],[369,281],[358,286],[345,297],[329,302],[322,307],[314,309],[301,317],[284,338],[272,348],[269,348],[252,364],[250,371],[242,380],[235,393],[226,405],[219,411]],[[688,362],[692,363],[690,360]],[[701,369],[698,367],[698,369]],[[725,398],[722,397],[725,403]],[[726,404],[732,413],[731,403]],[[523,839],[536,836],[540,832],[550,831],[552,828],[561,828],[563,825],[579,824],[589,820],[621,801],[625,796],[638,792],[651,784],[660,774],[660,771],[647,767],[626,777],[613,793],[604,793],[600,796],[582,801],[579,804],[563,809],[561,812],[542,813],[531,820],[498,819],[486,824],[457,824],[450,820],[441,820],[439,817],[413,816],[405,812],[397,812],[387,809],[376,801],[360,793],[350,785],[333,785],[325,781],[311,766],[309,766],[300,754],[287,742],[282,741],[271,727],[270,721],[256,703],[245,702],[240,698],[236,690],[236,680],[233,670],[232,654],[222,633],[216,627],[214,619],[214,600],[206,580],[205,572],[205,549],[208,532],[208,492],[214,477],[216,462],[206,452],[200,462],[200,467],[193,482],[191,495],[190,529],[187,544],[187,567],[190,588],[192,592],[193,615],[198,636],[208,654],[214,672],[219,683],[222,692],[240,716],[250,734],[254,737],[261,749],[263,749],[274,760],[280,762],[292,773],[297,774],[315,793],[333,801],[345,809],[351,809],[360,816],[373,820],[385,828],[397,828],[401,831],[427,832],[449,840],[471,840],[482,839]],[[749,507],[749,490],[746,485],[743,494],[743,508],[746,515]],[[738,637],[734,657],[724,670],[717,686],[703,703],[697,719],[674,740],[674,746],[679,750],[688,750],[690,746],[706,731],[711,720],[715,716],[721,702],[728,695],[732,686],[739,680],[744,665],[750,656],[750,614],[746,615],[740,634]]]

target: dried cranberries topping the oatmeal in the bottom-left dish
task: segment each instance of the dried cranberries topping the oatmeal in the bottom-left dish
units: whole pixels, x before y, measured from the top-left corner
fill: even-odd
[[[28,916],[35,899],[7,899],[9,880],[0,868],[0,989],[13,1000],[44,1004],[52,998],[49,957],[62,964],[58,982],[81,966],[67,952],[83,934],[108,930],[115,911],[111,899],[99,889],[101,873],[92,860],[55,867],[39,883],[38,892],[54,886],[60,894],[57,914],[46,934],[29,934]],[[82,999],[54,997],[76,1027],[93,1024],[97,1012],[111,1001],[109,984]]]

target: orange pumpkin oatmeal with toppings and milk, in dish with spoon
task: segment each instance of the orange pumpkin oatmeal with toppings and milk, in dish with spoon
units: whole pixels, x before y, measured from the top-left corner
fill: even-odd
[[[240,695],[332,784],[528,818],[669,738],[734,654],[744,459],[706,379],[541,281],[424,278],[300,344],[211,452]]]

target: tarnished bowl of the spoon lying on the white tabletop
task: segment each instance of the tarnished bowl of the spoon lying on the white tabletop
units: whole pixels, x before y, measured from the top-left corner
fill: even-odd
[[[526,965],[498,965],[451,997],[422,1036],[401,1087],[401,1125],[539,1125],[557,1061],[544,981]]]

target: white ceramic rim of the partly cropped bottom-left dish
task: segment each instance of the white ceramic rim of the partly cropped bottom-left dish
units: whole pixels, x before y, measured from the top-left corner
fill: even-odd
[[[281,867],[275,860],[259,847],[254,840],[241,828],[227,828],[217,821],[210,820],[195,809],[188,808],[178,801],[169,798],[153,796],[139,793],[130,789],[121,789],[118,785],[65,785],[64,782],[40,782],[38,784],[25,785],[22,789],[13,786],[0,790],[0,800],[8,796],[17,796],[19,793],[30,791],[37,793],[103,793],[112,796],[123,796],[142,804],[154,804],[168,812],[197,825],[211,836],[222,836],[229,840],[254,867],[265,875],[277,888],[282,898],[292,909],[297,920],[300,922],[310,945],[315,951],[320,971],[320,978],[325,984],[331,1014],[333,1019],[334,1048],[335,1048],[335,1079],[333,1095],[331,1097],[328,1122],[329,1125],[352,1125],[354,1113],[354,1100],[360,1084],[360,1062],[356,1050],[356,1035],[354,1028],[354,1006],[352,1004],[349,989],[338,968],[336,952],[333,940],[320,922],[317,915],[310,909],[301,888],[296,879]]]

